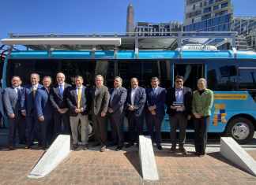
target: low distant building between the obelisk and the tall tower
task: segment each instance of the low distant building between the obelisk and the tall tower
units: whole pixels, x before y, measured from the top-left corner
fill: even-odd
[[[137,22],[135,31],[144,36],[168,36],[171,31],[183,31],[183,24],[171,21],[169,23]]]

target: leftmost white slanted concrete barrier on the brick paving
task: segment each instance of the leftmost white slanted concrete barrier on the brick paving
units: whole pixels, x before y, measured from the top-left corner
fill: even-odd
[[[58,135],[40,161],[29,173],[28,178],[38,179],[49,174],[70,154],[70,135]]]

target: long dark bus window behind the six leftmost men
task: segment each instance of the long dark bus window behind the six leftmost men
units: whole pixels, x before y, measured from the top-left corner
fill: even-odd
[[[97,65],[96,65],[97,63]],[[21,76],[23,84],[30,83],[30,74],[37,72],[40,76],[51,76],[55,83],[57,72],[63,72],[66,82],[73,84],[74,76],[83,76],[85,85],[94,85],[94,76],[104,76],[105,83],[111,87],[114,76],[114,64],[111,61],[82,61],[82,60],[11,60],[7,68],[7,85],[12,76]]]

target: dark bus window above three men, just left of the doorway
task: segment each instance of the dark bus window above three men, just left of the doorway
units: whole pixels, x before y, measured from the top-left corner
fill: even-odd
[[[118,76],[122,77],[123,86],[130,87],[130,79],[136,77],[141,87],[149,88],[150,79],[156,76],[160,86],[168,88],[171,84],[169,61],[119,61]]]

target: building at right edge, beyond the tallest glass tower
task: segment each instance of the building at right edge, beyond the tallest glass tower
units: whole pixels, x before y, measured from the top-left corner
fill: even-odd
[[[250,32],[256,31],[256,17],[234,17],[232,31],[237,31],[239,35],[250,35]]]

